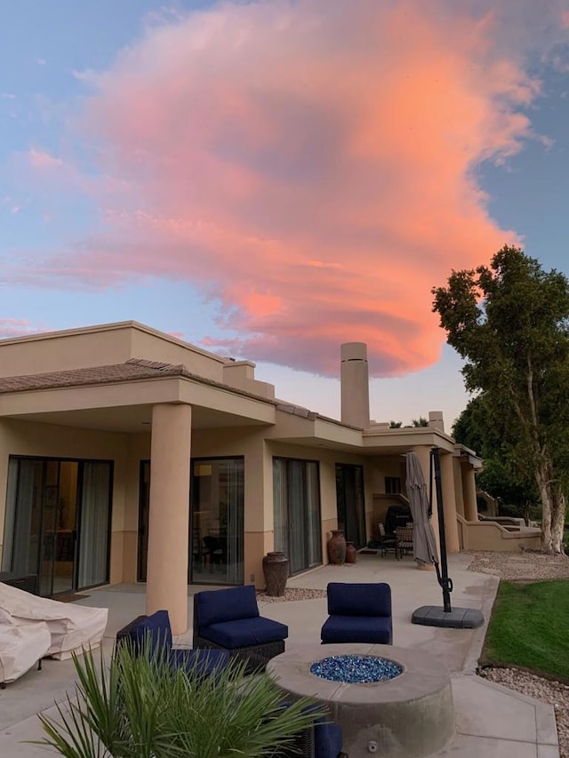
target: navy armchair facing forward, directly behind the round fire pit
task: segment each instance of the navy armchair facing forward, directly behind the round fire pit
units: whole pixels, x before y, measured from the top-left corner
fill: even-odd
[[[393,642],[391,587],[384,582],[344,584],[331,582],[327,588],[328,615],[320,636],[323,644]]]

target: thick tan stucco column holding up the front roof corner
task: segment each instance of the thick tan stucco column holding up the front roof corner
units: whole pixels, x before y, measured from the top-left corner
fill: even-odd
[[[188,628],[189,405],[152,409],[146,612],[165,609],[172,634]]]

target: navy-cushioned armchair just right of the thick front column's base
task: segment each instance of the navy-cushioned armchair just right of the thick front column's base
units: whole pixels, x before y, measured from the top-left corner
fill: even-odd
[[[227,650],[253,671],[284,652],[287,637],[288,626],[259,615],[252,585],[194,595],[194,648]]]

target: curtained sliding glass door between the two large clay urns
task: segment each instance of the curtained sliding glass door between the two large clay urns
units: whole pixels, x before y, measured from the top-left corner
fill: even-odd
[[[275,550],[288,555],[291,574],[322,563],[319,492],[317,461],[273,459]]]

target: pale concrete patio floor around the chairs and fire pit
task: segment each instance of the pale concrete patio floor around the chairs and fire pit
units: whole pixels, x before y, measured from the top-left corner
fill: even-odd
[[[451,555],[453,607],[481,610],[487,623],[498,578],[467,570],[471,555]],[[440,758],[558,758],[557,730],[553,708],[527,698],[475,674],[485,637],[485,626],[475,630],[441,629],[411,623],[413,610],[421,605],[441,605],[442,595],[433,571],[417,570],[411,558],[358,555],[357,563],[324,566],[289,579],[289,587],[325,589],[329,581],[388,582],[393,595],[394,644],[424,650],[438,656],[453,682],[456,735]],[[212,587],[208,587],[211,589]],[[193,595],[204,587],[188,587]],[[90,590],[82,605],[108,607],[108,627],[103,647],[111,650],[116,635],[128,621],[144,612],[145,588],[118,585]],[[261,613],[289,626],[287,650],[319,642],[320,627],[327,618],[325,598],[295,602],[260,602]],[[191,602],[188,626],[191,626]],[[179,642],[191,641],[191,629]],[[70,660],[45,660],[43,670],[32,670],[0,690],[0,755],[6,758],[39,758],[49,754],[26,740],[43,736],[39,712],[55,714],[54,701],[65,698],[75,682]]]

